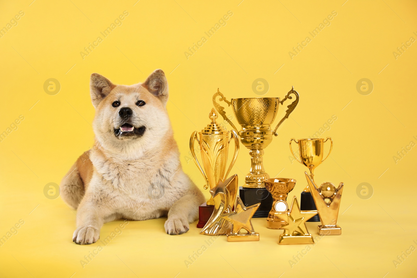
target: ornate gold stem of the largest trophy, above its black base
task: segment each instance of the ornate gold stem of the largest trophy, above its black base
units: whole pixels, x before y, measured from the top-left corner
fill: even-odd
[[[265,188],[264,180],[269,178],[268,173],[265,173],[262,155],[264,150],[260,144],[253,144],[249,150],[251,156],[251,169],[245,178],[245,188]]]

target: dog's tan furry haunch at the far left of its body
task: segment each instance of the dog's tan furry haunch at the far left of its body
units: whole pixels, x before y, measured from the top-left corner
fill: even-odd
[[[83,153],[61,181],[61,198],[72,208],[78,208],[84,196],[86,185],[90,182],[93,163],[90,151]]]

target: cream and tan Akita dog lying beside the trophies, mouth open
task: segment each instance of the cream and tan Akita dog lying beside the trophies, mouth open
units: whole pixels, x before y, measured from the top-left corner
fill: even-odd
[[[181,168],[163,71],[131,86],[93,73],[90,91],[95,145],[61,182],[63,200],[78,209],[73,241],[94,243],[103,223],[119,218],[168,215],[166,233],[186,233],[204,197]]]

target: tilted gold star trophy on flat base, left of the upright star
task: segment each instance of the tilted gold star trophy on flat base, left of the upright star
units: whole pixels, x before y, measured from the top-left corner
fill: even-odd
[[[222,218],[231,223],[231,230],[227,233],[227,241],[256,241],[259,240],[259,233],[256,233],[252,225],[251,218],[261,203],[245,207],[239,195],[237,195],[234,210],[231,213],[224,213]],[[241,233],[241,229],[245,229],[246,233]]]

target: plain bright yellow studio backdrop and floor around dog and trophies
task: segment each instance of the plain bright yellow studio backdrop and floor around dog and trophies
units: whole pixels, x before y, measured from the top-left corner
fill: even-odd
[[[397,59],[393,51],[410,37],[417,39],[417,5],[344,1],[2,1],[0,27],[20,10],[25,15],[0,38],[0,132],[19,115],[25,119],[0,142],[0,236],[19,219],[25,223],[0,246],[0,276],[415,277],[417,251],[397,267],[393,260],[410,245],[417,248],[417,147],[397,163],[393,156],[410,141],[417,143],[417,45]],[[125,10],[129,15],[123,24],[82,59],[83,48]],[[229,10],[233,15],[226,25],[208,38],[204,32]],[[337,16],[331,25],[311,38],[309,31],[332,11]],[[184,52],[203,36],[207,41],[187,59]],[[291,60],[289,51],[307,36],[311,42]],[[163,230],[165,218],[131,221],[83,268],[80,260],[98,243],[75,245],[76,212],[61,198],[46,198],[43,188],[59,184],[93,143],[90,74],[133,84],[156,68],[168,79],[167,109],[181,163],[201,188],[203,178],[186,158],[188,140],[208,124],[217,88],[227,98],[257,97],[252,83],[264,78],[270,87],[265,97],[282,98],[292,85],[299,92],[299,105],[264,155],[272,177],[298,180],[289,200],[306,185],[306,168],[290,160],[289,139],[311,136],[336,115],[331,129],[321,135],[334,140],[331,158],[317,168],[315,178],[317,183],[345,184],[342,235],[322,238],[291,267],[289,260],[306,246],[278,245],[280,232],[268,230],[264,219],[253,220],[259,242],[229,243],[223,236],[211,246],[196,223],[186,234],[169,236]],[[59,80],[58,94],[43,90],[48,78]],[[356,90],[361,78],[372,81],[371,94]],[[284,110],[280,108],[275,123]],[[242,147],[232,170],[240,183],[249,164],[248,150]],[[371,198],[357,195],[363,182],[372,186]],[[208,197],[208,191],[204,194]],[[120,223],[105,224],[102,238]],[[316,225],[308,224],[313,235]],[[202,245],[207,250],[187,268],[184,261]]]

